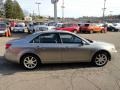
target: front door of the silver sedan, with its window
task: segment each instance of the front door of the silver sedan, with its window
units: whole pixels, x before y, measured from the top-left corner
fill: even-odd
[[[83,40],[73,34],[60,33],[63,62],[87,62],[90,59],[89,45],[83,45]]]

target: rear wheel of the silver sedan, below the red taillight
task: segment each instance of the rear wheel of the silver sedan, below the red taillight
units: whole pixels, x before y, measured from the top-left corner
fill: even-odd
[[[33,54],[26,54],[21,58],[21,65],[28,70],[33,70],[38,67],[39,58]]]

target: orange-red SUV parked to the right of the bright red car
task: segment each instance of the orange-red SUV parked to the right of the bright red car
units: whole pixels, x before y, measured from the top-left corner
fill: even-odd
[[[101,33],[106,33],[107,28],[100,26],[101,24],[94,24],[94,23],[84,23],[81,24],[80,26],[80,32],[88,32],[88,33],[93,33],[93,32],[101,32]]]

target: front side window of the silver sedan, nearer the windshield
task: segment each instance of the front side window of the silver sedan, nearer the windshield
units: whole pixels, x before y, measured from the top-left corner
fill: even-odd
[[[82,40],[80,38],[78,38],[77,36],[72,35],[72,34],[61,33],[60,38],[63,43],[73,43],[73,44],[82,43]]]

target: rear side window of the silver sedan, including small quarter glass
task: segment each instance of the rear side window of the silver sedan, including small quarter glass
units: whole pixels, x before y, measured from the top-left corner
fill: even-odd
[[[41,34],[32,43],[60,43],[59,35],[55,33]]]

